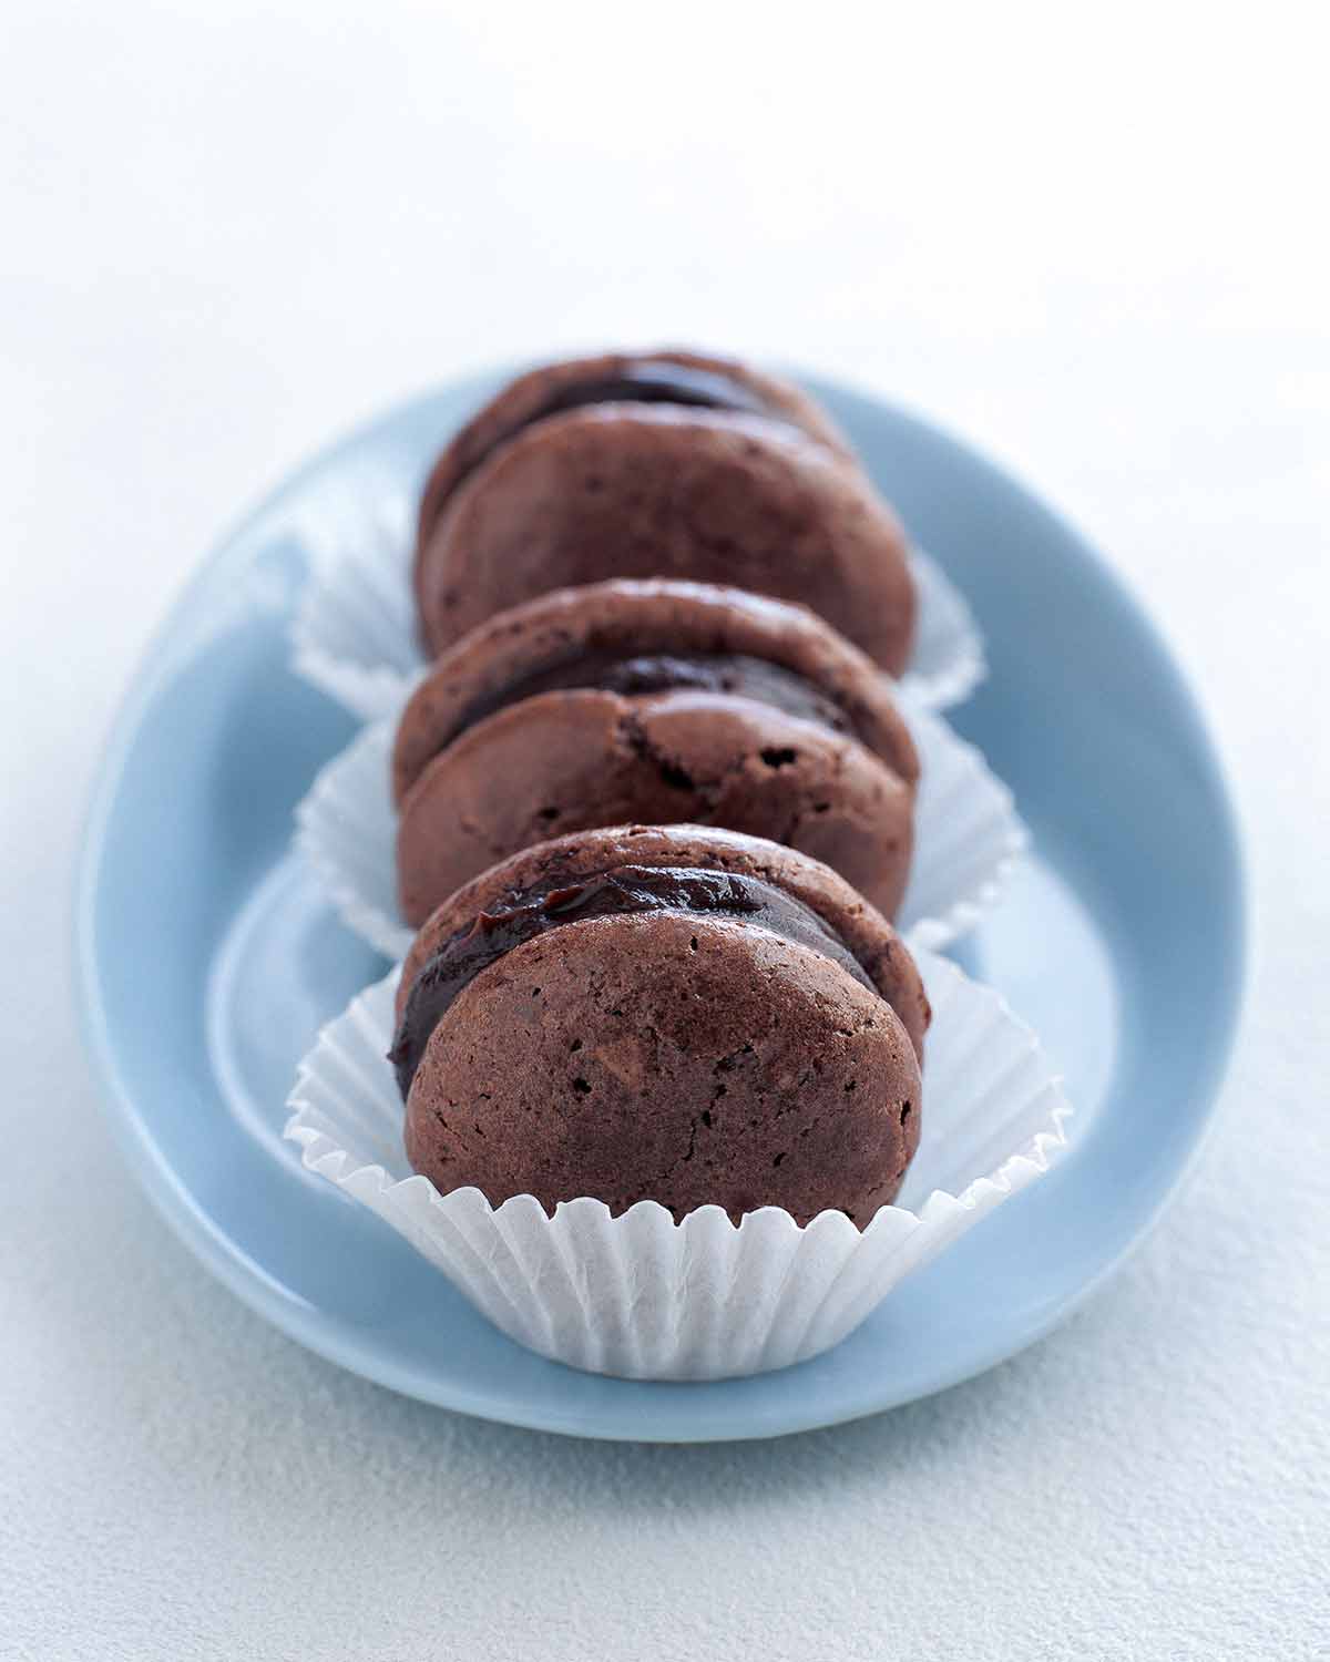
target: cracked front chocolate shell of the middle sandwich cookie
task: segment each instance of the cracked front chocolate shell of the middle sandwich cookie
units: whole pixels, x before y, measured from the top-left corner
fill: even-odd
[[[899,906],[913,789],[855,740],[702,691],[542,693],[469,728],[402,803],[402,914],[421,924],[485,866],[552,833],[715,823],[825,859],[879,911]]]

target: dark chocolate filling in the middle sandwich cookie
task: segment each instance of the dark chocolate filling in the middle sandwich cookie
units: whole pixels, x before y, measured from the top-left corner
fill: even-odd
[[[485,716],[524,698],[555,691],[608,691],[625,696],[693,688],[707,693],[730,693],[773,705],[786,715],[816,721],[835,733],[851,731],[845,710],[821,686],[763,658],[743,653],[660,652],[623,658],[608,652],[580,653],[477,698],[462,713],[454,738]]]

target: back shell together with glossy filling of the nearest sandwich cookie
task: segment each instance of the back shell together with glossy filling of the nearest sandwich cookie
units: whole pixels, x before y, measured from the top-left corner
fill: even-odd
[[[874,989],[923,1059],[928,996],[891,924],[830,866],[710,826],[610,826],[522,849],[452,894],[402,964],[392,1060],[404,1095],[429,1035],[477,974],[589,917],[688,912],[748,921],[813,947]]]

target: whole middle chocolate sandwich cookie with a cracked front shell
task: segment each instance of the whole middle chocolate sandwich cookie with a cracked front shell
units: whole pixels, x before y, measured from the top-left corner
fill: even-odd
[[[918,776],[889,683],[805,607],[682,582],[555,590],[457,642],[402,713],[402,914],[419,926],[565,831],[690,821],[803,849],[893,916]]]

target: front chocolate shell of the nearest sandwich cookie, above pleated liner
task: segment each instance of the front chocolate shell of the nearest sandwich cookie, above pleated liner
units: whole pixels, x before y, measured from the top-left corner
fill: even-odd
[[[406,1145],[439,1190],[494,1205],[863,1225],[918,1133],[918,1060],[876,994],[765,929],[652,912],[552,929],[470,982],[412,1082]]]

